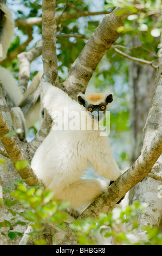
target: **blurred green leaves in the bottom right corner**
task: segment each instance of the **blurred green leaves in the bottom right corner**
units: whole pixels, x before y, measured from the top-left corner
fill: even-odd
[[[95,235],[99,232],[106,238],[114,236],[116,242],[122,245],[161,245],[162,237],[159,229],[144,227],[144,238],[138,241],[133,241],[129,234],[135,234],[135,230],[139,228],[137,215],[145,212],[146,204],[135,202],[130,206],[126,206],[125,210],[121,208],[114,208],[109,214],[100,214],[99,219],[93,220],[88,218],[85,221],[77,220],[71,224],[71,228],[76,230],[75,234],[78,236],[79,245],[84,241],[85,245],[95,245]],[[116,227],[123,223],[131,224],[131,229],[127,232],[118,233]],[[103,239],[102,239],[103,241]]]

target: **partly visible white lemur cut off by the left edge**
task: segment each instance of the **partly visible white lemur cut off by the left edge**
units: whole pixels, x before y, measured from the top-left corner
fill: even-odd
[[[0,0],[0,45],[2,56],[0,62],[5,59],[14,34],[14,21],[7,5]],[[40,113],[40,79],[42,71],[38,72],[27,92],[23,95],[17,81],[7,69],[0,66],[0,81],[4,88],[5,99],[7,100],[13,125],[15,129],[20,128],[20,139],[25,140],[26,128],[35,123]]]

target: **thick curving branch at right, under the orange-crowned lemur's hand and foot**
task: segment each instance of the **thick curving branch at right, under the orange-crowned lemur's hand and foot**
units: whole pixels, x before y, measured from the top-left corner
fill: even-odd
[[[162,35],[161,35],[162,41]],[[137,161],[116,180],[108,190],[91,204],[80,216],[87,218],[90,215],[97,217],[100,212],[107,213],[134,185],[138,184],[151,169],[156,169],[161,164],[162,153],[162,58],[159,57],[159,68],[155,80],[154,93],[148,117],[144,128],[144,144],[141,155]],[[155,166],[154,166],[155,165]],[[161,167],[160,167],[161,168]]]

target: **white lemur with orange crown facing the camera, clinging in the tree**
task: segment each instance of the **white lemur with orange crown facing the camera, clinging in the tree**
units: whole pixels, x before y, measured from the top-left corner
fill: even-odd
[[[55,192],[57,199],[70,202],[71,209],[81,212],[109,185],[106,180],[81,179],[88,162],[96,173],[106,179],[114,181],[120,176],[108,136],[100,136],[101,131],[96,129],[103,117],[100,113],[105,114],[113,97],[111,94],[79,94],[76,102],[44,77],[41,87],[43,107],[54,124],[37,149],[31,167],[43,184]],[[67,110],[70,118],[78,113],[76,130],[73,126],[68,129]],[[57,129],[60,122],[66,129]]]

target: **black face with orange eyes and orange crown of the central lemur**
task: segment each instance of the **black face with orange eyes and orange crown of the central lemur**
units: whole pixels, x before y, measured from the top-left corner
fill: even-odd
[[[113,96],[112,94],[104,95],[101,93],[88,94],[86,96],[80,94],[77,96],[77,101],[86,108],[89,117],[100,121],[105,116],[108,103],[113,101]]]

